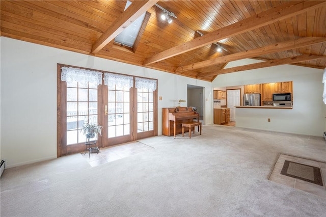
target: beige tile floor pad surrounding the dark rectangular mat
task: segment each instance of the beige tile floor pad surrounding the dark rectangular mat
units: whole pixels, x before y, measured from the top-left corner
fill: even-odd
[[[284,161],[292,161],[292,162],[298,162],[300,164],[309,165],[313,167],[320,168],[322,180],[323,180],[323,186],[310,183],[307,181],[303,181],[300,179],[292,178],[286,175],[282,175],[281,171],[284,165]],[[277,160],[273,172],[271,172],[269,176],[270,181],[274,181],[280,184],[287,185],[289,187],[293,187],[296,189],[300,189],[302,191],[318,195],[320,197],[326,198],[326,164],[319,161],[304,159],[300,157],[294,157],[289,156],[285,154],[280,154],[279,159]]]

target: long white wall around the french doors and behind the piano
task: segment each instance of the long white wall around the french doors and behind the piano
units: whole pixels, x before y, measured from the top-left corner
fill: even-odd
[[[1,37],[1,158],[8,167],[57,157],[57,64],[158,79],[162,107],[187,98],[187,85],[205,87],[204,123],[212,123],[211,83],[62,49]]]

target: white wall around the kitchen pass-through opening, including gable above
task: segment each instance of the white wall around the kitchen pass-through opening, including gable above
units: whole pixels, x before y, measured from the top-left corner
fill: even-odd
[[[234,61],[230,65],[261,62]],[[323,70],[283,65],[218,75],[212,87],[293,81],[293,109],[236,108],[236,126],[270,131],[322,136],[325,105],[322,101]],[[270,118],[270,122],[267,122]]]

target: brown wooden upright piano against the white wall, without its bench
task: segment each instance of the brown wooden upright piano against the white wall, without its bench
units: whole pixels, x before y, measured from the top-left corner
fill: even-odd
[[[175,135],[182,133],[182,124],[184,122],[191,122],[197,119],[199,121],[199,114],[193,111],[192,107],[174,107],[163,108],[162,111],[162,134]]]

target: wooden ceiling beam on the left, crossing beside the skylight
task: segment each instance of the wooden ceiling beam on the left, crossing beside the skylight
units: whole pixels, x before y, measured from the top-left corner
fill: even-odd
[[[145,13],[158,1],[133,1],[132,4],[111,24],[111,26],[97,39],[92,47],[92,53],[96,54],[106,44],[112,41],[125,28],[128,27],[139,16]]]

